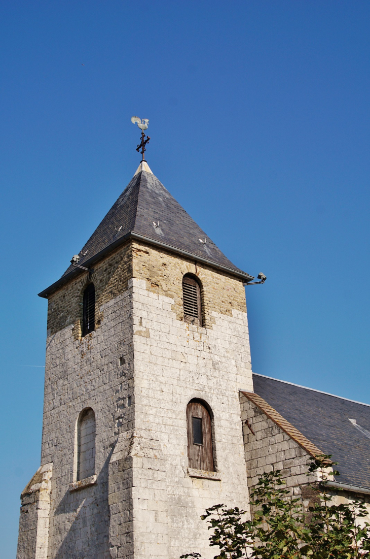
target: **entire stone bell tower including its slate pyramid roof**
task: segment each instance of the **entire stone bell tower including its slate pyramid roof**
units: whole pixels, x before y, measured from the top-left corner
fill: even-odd
[[[213,557],[200,514],[249,501],[246,279],[142,162],[40,293],[41,466],[17,559]]]

